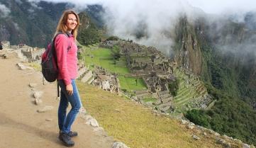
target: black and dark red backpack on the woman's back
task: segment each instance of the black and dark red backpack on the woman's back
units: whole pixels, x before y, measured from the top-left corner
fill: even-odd
[[[63,33],[57,33],[57,35],[60,35]],[[67,38],[68,35],[64,33]],[[42,55],[42,61],[41,61],[41,66],[42,66],[42,73],[43,77],[46,79],[46,81],[53,82],[57,79],[57,75],[59,73],[58,67],[57,67],[57,55],[55,51],[55,37],[52,39],[52,42],[48,45],[47,49],[45,52],[43,52]],[[69,50],[69,47],[68,49]]]

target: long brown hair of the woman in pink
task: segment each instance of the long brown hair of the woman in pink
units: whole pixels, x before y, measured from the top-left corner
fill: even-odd
[[[57,24],[57,28],[56,28],[56,32],[55,32],[55,35],[57,35],[57,33],[67,33],[67,16],[69,14],[74,14],[74,16],[76,16],[77,18],[77,26],[74,28],[74,30],[71,31],[71,34],[74,35],[74,40],[76,40],[77,38],[77,29],[79,27],[79,16],[77,15],[77,13],[75,13],[74,11],[72,10],[67,10],[67,11],[64,11],[62,13],[62,16],[60,17],[60,21],[59,23]]]

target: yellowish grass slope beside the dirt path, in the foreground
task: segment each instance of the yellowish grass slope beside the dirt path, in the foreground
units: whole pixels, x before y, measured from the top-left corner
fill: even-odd
[[[77,82],[82,103],[109,136],[133,148],[221,147],[210,133],[188,130],[177,120],[154,115],[133,101]],[[194,140],[191,135],[201,139]]]

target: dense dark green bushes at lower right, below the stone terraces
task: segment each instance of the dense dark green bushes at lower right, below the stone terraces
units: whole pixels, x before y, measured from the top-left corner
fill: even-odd
[[[190,110],[186,118],[249,144],[256,144],[256,114],[247,103],[218,94],[221,98],[210,110]]]

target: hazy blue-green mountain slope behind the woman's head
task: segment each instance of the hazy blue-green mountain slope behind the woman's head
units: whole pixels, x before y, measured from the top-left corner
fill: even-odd
[[[46,1],[33,3],[27,0],[0,0],[0,4],[10,11],[7,16],[0,17],[0,40],[9,40],[11,45],[22,43],[37,47],[45,47],[50,42],[62,12],[73,8],[72,4]],[[91,22],[96,23],[95,28],[102,27],[104,23],[101,23],[99,13],[103,8],[93,5],[84,11],[91,15]]]

